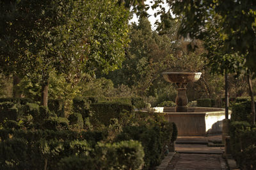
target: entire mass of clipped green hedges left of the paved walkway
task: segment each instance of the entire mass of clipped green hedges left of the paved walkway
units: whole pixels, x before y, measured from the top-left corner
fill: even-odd
[[[152,169],[177,137],[163,116],[121,102],[76,98],[74,112],[61,118],[28,99],[0,101],[3,169]]]

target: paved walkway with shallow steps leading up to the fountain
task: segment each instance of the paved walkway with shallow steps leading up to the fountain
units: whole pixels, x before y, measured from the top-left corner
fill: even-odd
[[[228,169],[220,143],[221,135],[178,137],[176,153],[170,153],[157,169]]]

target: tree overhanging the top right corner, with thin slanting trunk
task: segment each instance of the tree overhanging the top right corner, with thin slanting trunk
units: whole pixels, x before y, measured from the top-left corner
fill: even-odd
[[[250,72],[256,72],[256,2],[246,0],[168,3],[173,13],[182,19],[179,33],[204,40],[213,72],[247,72],[252,99],[252,122],[255,123]]]

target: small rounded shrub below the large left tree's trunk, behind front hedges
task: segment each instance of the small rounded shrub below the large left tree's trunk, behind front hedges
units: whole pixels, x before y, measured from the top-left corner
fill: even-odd
[[[49,130],[67,130],[68,120],[67,118],[49,117],[44,120],[42,128]]]

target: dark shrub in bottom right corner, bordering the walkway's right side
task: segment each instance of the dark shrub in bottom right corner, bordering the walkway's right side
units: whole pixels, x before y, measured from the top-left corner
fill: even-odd
[[[230,123],[232,155],[241,169],[256,169],[256,127],[246,121]]]

